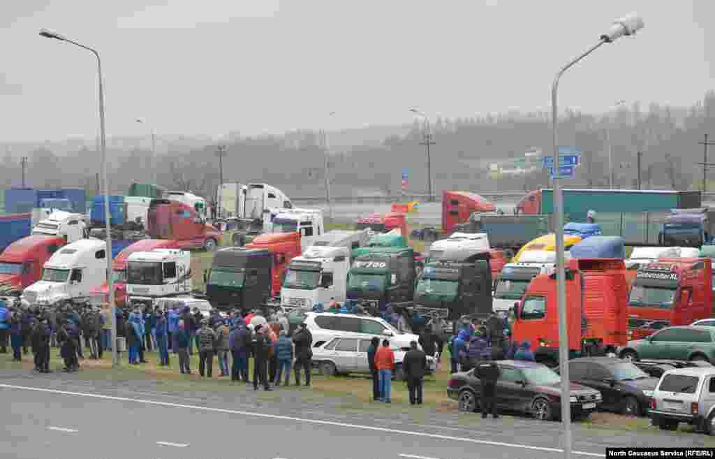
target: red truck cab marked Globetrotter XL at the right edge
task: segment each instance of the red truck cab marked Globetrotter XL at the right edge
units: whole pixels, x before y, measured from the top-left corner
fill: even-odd
[[[690,325],[709,318],[712,310],[712,261],[710,258],[661,257],[641,265],[628,297],[628,317],[634,324]],[[655,330],[631,328],[632,339]]]

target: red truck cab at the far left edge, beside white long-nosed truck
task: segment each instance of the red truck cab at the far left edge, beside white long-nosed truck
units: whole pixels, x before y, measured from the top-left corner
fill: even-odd
[[[29,235],[13,242],[0,254],[0,292],[19,295],[42,277],[42,266],[66,244],[64,237]]]

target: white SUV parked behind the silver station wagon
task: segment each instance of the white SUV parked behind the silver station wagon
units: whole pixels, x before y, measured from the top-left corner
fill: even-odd
[[[411,341],[418,341],[418,335],[398,332],[392,325],[370,315],[340,314],[335,312],[308,312],[305,324],[313,338],[313,347],[318,347],[334,337],[367,338],[373,336],[390,341],[390,345],[400,350],[409,350]],[[418,347],[420,347],[418,345]]]

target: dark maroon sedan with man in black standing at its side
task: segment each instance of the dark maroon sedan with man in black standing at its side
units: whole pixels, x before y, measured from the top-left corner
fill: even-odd
[[[501,377],[497,382],[497,405],[500,410],[529,413],[541,420],[556,420],[561,416],[561,378],[541,363],[518,360],[497,362]],[[479,410],[481,382],[474,370],[451,375],[447,395],[459,402],[459,410]],[[601,403],[598,390],[571,383],[571,413],[573,418],[588,418]]]

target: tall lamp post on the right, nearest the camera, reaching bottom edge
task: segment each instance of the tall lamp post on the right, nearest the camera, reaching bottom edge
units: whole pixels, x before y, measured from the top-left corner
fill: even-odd
[[[561,375],[561,422],[563,423],[563,454],[566,459],[571,458],[571,403],[566,403],[566,400],[571,400],[569,395],[569,379],[568,379],[568,325],[566,324],[566,282],[565,273],[563,271],[563,196],[561,194],[561,180],[558,177],[558,82],[561,76],[570,69],[571,66],[581,61],[584,57],[596,51],[601,45],[612,43],[616,39],[624,35],[635,34],[636,31],[643,29],[644,22],[640,16],[636,14],[628,14],[622,18],[616,19],[608,29],[606,34],[601,35],[598,43],[592,46],[588,51],[578,56],[573,61],[570,61],[566,66],[556,74],[551,87],[551,127],[553,129],[553,170],[556,172],[553,178],[553,204],[556,213],[556,222],[554,228],[556,233],[556,287],[558,299],[558,365]]]

